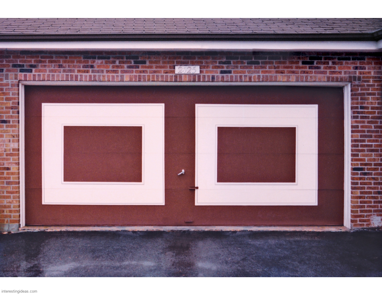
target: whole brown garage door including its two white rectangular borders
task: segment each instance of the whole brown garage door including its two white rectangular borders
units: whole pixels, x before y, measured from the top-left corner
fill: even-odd
[[[342,88],[25,86],[26,224],[342,225],[343,134]]]

